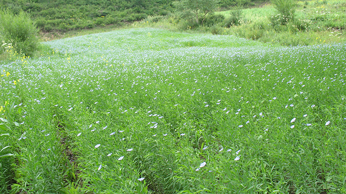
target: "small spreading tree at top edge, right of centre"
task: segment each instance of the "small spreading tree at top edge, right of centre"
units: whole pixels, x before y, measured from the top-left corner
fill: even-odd
[[[197,24],[203,18],[201,21],[201,24],[203,24],[206,15],[212,14],[215,11],[217,3],[217,0],[180,0],[174,2],[174,6],[177,8],[177,11],[184,13],[192,12]]]

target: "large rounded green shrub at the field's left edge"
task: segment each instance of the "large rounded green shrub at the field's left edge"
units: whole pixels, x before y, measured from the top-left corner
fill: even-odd
[[[0,10],[0,34],[18,53],[31,55],[39,45],[38,29],[30,15],[20,11]]]

